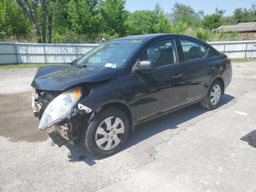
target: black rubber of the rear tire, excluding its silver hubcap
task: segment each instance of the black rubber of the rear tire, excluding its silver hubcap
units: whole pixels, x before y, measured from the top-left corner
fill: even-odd
[[[211,99],[211,92],[212,92],[212,88],[215,86],[215,85],[219,85],[220,86],[220,99],[218,100],[218,103],[216,105],[213,105],[210,101]],[[214,80],[214,82],[212,82],[208,92],[207,92],[207,95],[206,97],[200,102],[202,108],[205,108],[205,109],[208,109],[208,110],[214,110],[218,107],[219,103],[220,103],[220,100],[222,98],[222,92],[223,92],[223,87],[222,87],[222,83],[219,81],[219,80]]]

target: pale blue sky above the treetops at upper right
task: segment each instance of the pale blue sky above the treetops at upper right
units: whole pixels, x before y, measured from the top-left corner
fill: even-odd
[[[224,16],[230,16],[236,8],[251,8],[256,0],[126,0],[126,9],[130,12],[135,10],[153,10],[156,3],[159,3],[165,12],[172,12],[175,2],[190,5],[196,12],[204,10],[204,14],[212,14],[215,8],[226,10]]]

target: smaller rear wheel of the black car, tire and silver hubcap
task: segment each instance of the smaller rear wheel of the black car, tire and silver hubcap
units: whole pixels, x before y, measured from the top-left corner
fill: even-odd
[[[214,80],[204,100],[200,102],[201,106],[208,110],[213,110],[218,107],[222,98],[222,84],[219,80]]]

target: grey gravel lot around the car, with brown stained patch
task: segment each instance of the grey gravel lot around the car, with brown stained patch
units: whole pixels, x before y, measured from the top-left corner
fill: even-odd
[[[80,144],[58,148],[37,130],[36,69],[0,70],[0,191],[255,192],[256,148],[240,138],[256,130],[256,62],[232,66],[218,109],[196,104],[142,124],[105,159]]]

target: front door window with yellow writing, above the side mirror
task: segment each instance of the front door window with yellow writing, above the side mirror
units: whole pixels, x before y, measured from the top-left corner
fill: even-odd
[[[157,67],[166,66],[178,62],[174,39],[162,40],[153,44],[140,57],[142,60],[154,60]]]

